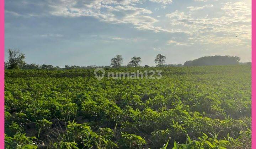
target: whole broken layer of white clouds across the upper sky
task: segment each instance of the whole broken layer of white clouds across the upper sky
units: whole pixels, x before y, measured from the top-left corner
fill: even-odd
[[[31,3],[33,5],[42,5],[42,3],[37,4],[32,0],[24,1],[27,2],[27,5]],[[159,3],[162,9],[165,9],[166,4],[172,3],[172,0],[150,1]],[[193,45],[194,43],[207,45],[212,43],[226,46],[248,46],[251,40],[251,12],[250,7],[244,2],[214,4],[214,9],[217,12],[212,12],[214,15],[210,15],[209,13],[207,17],[198,17],[198,13],[194,11],[202,11],[202,9],[204,9],[203,11],[207,11],[205,8],[213,7],[213,5],[190,6],[187,7],[189,11],[186,10],[184,12],[176,10],[165,15],[169,18],[169,24],[165,24],[166,21],[161,22],[162,18],[159,18],[164,13],[156,14],[156,16],[148,7],[140,5],[145,0],[47,0],[47,2],[44,5],[47,5],[48,8],[43,13],[29,12],[25,15],[37,16],[40,14],[50,14],[60,17],[90,16],[107,23],[126,23],[140,30],[168,33],[182,32],[187,36],[187,45]],[[217,10],[218,8],[219,10]],[[20,14],[14,10],[6,10],[5,12],[14,16],[24,16],[24,14]],[[222,16],[219,17],[220,14]],[[156,24],[161,24],[162,26],[156,26]],[[237,35],[238,38],[236,38]],[[41,36],[62,37],[62,35],[58,34],[45,34]],[[108,40],[124,39],[112,37]],[[185,42],[177,41],[184,40],[169,40],[167,44],[186,45]]]

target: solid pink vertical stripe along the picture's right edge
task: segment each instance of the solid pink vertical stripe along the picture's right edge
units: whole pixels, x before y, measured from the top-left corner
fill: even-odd
[[[252,149],[256,149],[256,0],[252,0]]]

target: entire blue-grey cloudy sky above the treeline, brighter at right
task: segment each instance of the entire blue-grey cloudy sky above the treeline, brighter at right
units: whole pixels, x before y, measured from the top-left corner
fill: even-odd
[[[7,49],[28,64],[105,66],[115,55],[155,66],[202,56],[251,61],[250,0],[8,0]]]

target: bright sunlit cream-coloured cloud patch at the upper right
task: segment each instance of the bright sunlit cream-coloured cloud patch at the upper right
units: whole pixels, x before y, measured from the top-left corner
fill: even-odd
[[[188,44],[226,45],[229,48],[250,45],[250,8],[244,2],[228,2],[222,3],[220,11],[224,14],[221,17],[194,17],[192,12],[180,11],[166,14],[166,17],[170,18],[171,26],[183,28],[183,31],[190,33]],[[237,35],[239,38],[236,38]],[[169,44],[174,43],[169,41]]]

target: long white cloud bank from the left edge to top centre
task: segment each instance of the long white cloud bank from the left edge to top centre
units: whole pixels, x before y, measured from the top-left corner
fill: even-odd
[[[172,0],[152,0],[161,4],[171,4]],[[9,2],[11,3],[11,2]],[[150,14],[151,10],[137,7],[141,0],[55,0],[40,1],[23,0],[20,7],[22,12],[15,9],[6,10],[12,15],[31,16],[60,16],[60,17],[94,17],[107,23],[128,23],[137,29],[154,32],[170,32],[154,23],[158,20]],[[9,4],[10,5],[10,4]]]

